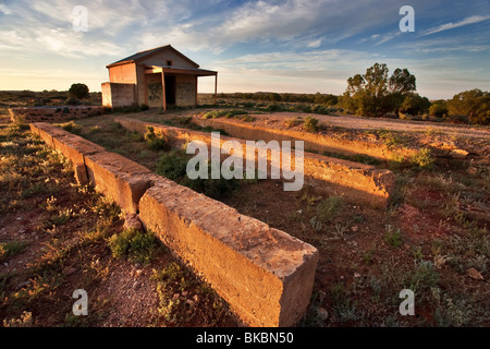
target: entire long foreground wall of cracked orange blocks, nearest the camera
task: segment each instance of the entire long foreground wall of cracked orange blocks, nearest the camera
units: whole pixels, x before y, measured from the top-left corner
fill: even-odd
[[[30,123],[91,183],[187,262],[250,326],[293,326],[313,291],[318,251],[225,204],[48,123]]]

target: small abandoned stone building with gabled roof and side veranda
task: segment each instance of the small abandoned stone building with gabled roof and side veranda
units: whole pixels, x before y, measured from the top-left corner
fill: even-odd
[[[109,81],[102,84],[102,106],[150,108],[197,105],[197,79],[215,76],[215,103],[218,72],[199,65],[167,45],[142,51],[107,65]]]

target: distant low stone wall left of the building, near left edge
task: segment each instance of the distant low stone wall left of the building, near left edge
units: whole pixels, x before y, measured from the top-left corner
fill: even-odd
[[[61,122],[73,119],[82,119],[91,116],[100,116],[100,106],[62,106],[62,107],[22,107],[10,108],[12,122]]]

